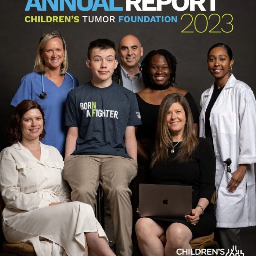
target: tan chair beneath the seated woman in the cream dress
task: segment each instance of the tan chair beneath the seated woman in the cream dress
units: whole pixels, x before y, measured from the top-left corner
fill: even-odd
[[[4,210],[5,204],[2,196],[0,195],[0,212],[1,212],[1,219],[2,212]],[[29,243],[18,243],[18,244],[10,244],[5,241],[4,235],[2,232],[2,225],[1,225],[1,231],[0,231],[1,237],[2,237],[2,252],[0,256],[36,256],[36,252],[32,246],[32,244]]]

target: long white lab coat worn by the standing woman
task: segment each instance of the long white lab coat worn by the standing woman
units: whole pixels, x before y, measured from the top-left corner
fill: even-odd
[[[205,138],[204,116],[214,84],[201,96],[199,136]],[[231,75],[220,92],[210,114],[214,153],[216,156],[216,219],[219,228],[241,228],[256,225],[254,163],[256,162],[256,102],[251,88]],[[227,192],[231,174],[222,163],[231,158],[230,169],[248,164],[242,182],[234,193]]]

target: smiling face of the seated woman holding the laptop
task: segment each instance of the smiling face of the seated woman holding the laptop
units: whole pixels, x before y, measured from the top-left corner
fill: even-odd
[[[186,114],[179,102],[175,102],[171,105],[167,113],[166,121],[171,136],[175,136],[178,140],[181,140],[186,123]]]

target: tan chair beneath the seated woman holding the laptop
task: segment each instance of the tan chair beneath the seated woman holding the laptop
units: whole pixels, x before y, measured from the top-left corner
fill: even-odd
[[[215,205],[216,201],[216,192],[212,195],[211,203]],[[165,234],[162,235],[160,238],[160,241],[165,244],[166,243],[166,237]],[[214,232],[212,232],[211,235],[209,236],[201,236],[197,237],[195,239],[192,239],[189,244],[191,245],[192,249],[200,249],[200,252],[202,249],[208,246],[214,246],[216,250],[219,249],[219,244],[213,240],[214,239]],[[219,250],[218,250],[218,256],[220,255]],[[199,254],[201,256],[201,254]]]

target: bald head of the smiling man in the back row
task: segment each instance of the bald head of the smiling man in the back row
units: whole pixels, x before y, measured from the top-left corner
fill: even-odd
[[[118,54],[124,69],[138,67],[140,57],[143,55],[140,40],[133,35],[122,37],[118,46]]]

